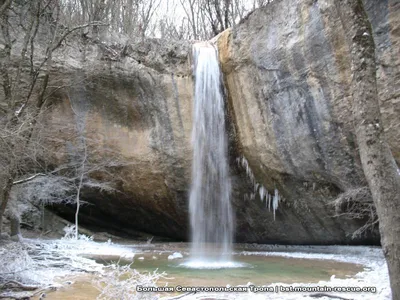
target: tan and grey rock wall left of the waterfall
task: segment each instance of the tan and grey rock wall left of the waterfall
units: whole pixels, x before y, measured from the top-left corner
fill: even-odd
[[[83,189],[82,200],[90,205],[81,209],[81,224],[131,237],[139,231],[186,238],[190,53],[189,42],[160,40],[124,47],[76,41],[57,52],[50,85],[63,88],[43,120],[53,153],[46,160],[57,167],[71,159],[83,127],[90,176],[115,189]],[[73,207],[56,209],[73,220]]]

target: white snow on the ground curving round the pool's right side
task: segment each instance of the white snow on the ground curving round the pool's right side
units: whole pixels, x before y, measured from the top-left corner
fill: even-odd
[[[302,259],[329,259],[340,262],[356,263],[364,265],[364,271],[356,274],[353,278],[338,279],[332,276],[329,281],[320,281],[318,283],[274,283],[263,286],[265,290],[271,288],[271,292],[254,293],[247,291],[244,293],[197,293],[189,295],[185,299],[204,299],[205,297],[213,299],[315,299],[310,297],[312,294],[324,293],[335,295],[344,299],[367,299],[384,300],[391,299],[389,275],[387,265],[379,247],[364,246],[278,246],[278,245],[257,245],[254,250],[262,251],[242,251],[236,254],[242,255],[260,255],[260,256],[282,256]],[[268,251],[268,252],[265,252]],[[248,283],[247,287],[252,285]],[[372,287],[376,292],[283,292],[290,290],[291,287]],[[254,289],[253,289],[254,291]],[[277,292],[278,291],[278,292]],[[332,299],[329,297],[318,297],[318,299]]]

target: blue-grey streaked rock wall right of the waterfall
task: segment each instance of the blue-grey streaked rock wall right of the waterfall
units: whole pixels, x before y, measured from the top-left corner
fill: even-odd
[[[383,123],[399,162],[400,5],[365,6]],[[252,203],[239,210],[239,234],[247,229],[263,242],[356,242],[348,238],[354,222],[332,218],[329,205],[366,185],[352,124],[350,53],[333,2],[273,1],[217,43],[240,152],[257,181],[285,199],[275,222]]]

